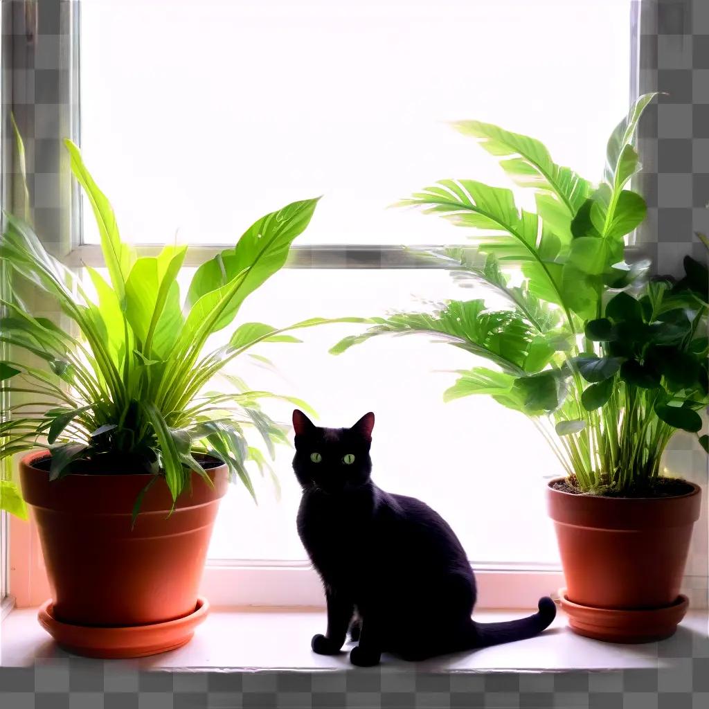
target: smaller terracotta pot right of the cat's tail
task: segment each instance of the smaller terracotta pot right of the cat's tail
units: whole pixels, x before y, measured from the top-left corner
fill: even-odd
[[[557,482],[549,483],[547,506],[566,577],[566,610],[573,614],[574,606],[628,611],[664,608],[662,627],[654,634],[646,626],[642,640],[667,637],[666,618],[668,614],[676,618],[681,605],[679,589],[692,528],[699,517],[699,487],[688,484],[691,492],[676,497],[610,498],[555,490],[552,486]],[[651,615],[645,614],[643,622]],[[613,617],[622,619],[623,613]],[[589,635],[580,625],[574,626],[573,620],[571,615],[576,632]],[[605,627],[599,631],[605,635],[603,640],[620,639],[621,631],[614,635],[613,623],[600,625]],[[622,642],[632,642],[627,627],[622,635]]]

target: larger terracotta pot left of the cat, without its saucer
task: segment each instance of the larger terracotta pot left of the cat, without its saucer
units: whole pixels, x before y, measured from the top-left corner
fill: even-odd
[[[133,504],[152,476],[72,474],[50,481],[46,470],[33,466],[45,456],[29,454],[20,471],[52,588],[53,618],[125,627],[195,613],[227,467],[208,470],[213,488],[194,474],[191,493],[178,498],[172,515],[167,484],[157,481],[131,530]]]

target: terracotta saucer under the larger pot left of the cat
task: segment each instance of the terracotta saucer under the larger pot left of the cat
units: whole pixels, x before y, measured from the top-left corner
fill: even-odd
[[[62,623],[52,615],[52,602],[45,601],[38,612],[40,625],[64,649],[84,657],[116,659],[145,657],[182,647],[191,640],[194,629],[206,618],[209,603],[197,599],[194,613],[167,623],[130,627],[90,627]]]

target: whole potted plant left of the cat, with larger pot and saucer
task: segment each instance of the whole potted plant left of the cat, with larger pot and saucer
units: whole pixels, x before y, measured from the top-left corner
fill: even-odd
[[[317,199],[257,220],[196,269],[183,302],[177,276],[186,247],[138,258],[79,150],[66,145],[110,282],[87,268],[96,291],[89,295],[26,221],[4,215],[0,262],[13,288],[1,300],[0,341],[23,357],[0,362],[0,386],[28,396],[0,419],[0,459],[39,449],[23,457],[20,477],[53,591],[40,622],[74,652],[133,657],[186,642],[206,613],[197,593],[219,500],[229,480],[254,494],[248,461],[269,469],[247,430],[271,453],[287,442],[259,404],[276,395],[207,385],[259,342],[298,340],[242,323],[225,345],[206,345],[284,265]],[[19,295],[23,283],[52,298],[78,334],[33,316]],[[4,508],[22,514],[8,479],[2,492]]]

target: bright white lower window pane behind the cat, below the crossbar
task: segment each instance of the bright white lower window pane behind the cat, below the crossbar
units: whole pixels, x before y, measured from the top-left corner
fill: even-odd
[[[182,272],[183,293],[193,272]],[[283,327],[315,316],[385,315],[389,308],[425,309],[444,298],[479,296],[441,270],[284,269],[245,301],[236,324]],[[225,372],[238,375],[252,390],[303,398],[320,415],[319,425],[352,425],[374,411],[376,484],[430,504],[476,562],[557,563],[544,492],[545,479],[562,470],[542,437],[523,415],[489,398],[442,401],[456,378],[451,370],[481,360],[414,335],[379,337],[344,354],[328,353],[342,337],[359,331],[360,325],[342,324],[299,330],[301,343],[263,343],[251,350],[270,359],[275,370],[245,356]],[[208,347],[222,345],[232,332],[230,327],[213,335]],[[221,377],[211,383],[216,391],[229,388]],[[291,404],[263,403],[273,418],[290,427]],[[258,444],[259,438],[252,442]],[[280,500],[271,481],[259,478],[256,469],[258,506],[241,484],[230,489],[216,521],[211,559],[306,559],[296,532],[300,488],[292,458],[292,448],[278,447],[273,467]]]

